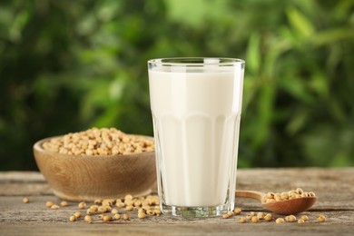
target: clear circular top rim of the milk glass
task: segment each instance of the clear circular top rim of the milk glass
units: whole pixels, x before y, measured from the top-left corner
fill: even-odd
[[[244,63],[245,61],[242,59],[231,57],[166,57],[148,60],[148,64],[158,64],[162,66],[202,66],[206,64],[228,66]]]

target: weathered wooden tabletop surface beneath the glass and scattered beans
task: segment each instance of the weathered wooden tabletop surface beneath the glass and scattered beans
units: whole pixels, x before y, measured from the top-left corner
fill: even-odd
[[[239,170],[237,188],[261,192],[283,192],[302,188],[313,191],[318,202],[304,212],[310,221],[304,224],[274,221],[241,224],[238,216],[230,219],[182,219],[178,217],[148,217],[143,220],[132,213],[131,221],[92,224],[69,221],[77,211],[77,203],[49,210],[45,202],[59,203],[39,172],[0,172],[0,235],[354,235],[354,167],[344,169],[250,169]],[[23,198],[30,202],[25,204]],[[237,199],[241,215],[249,211],[264,211],[259,202]],[[83,211],[84,212],[84,211]],[[320,214],[327,217],[317,222]],[[300,214],[301,215],[301,214]]]

